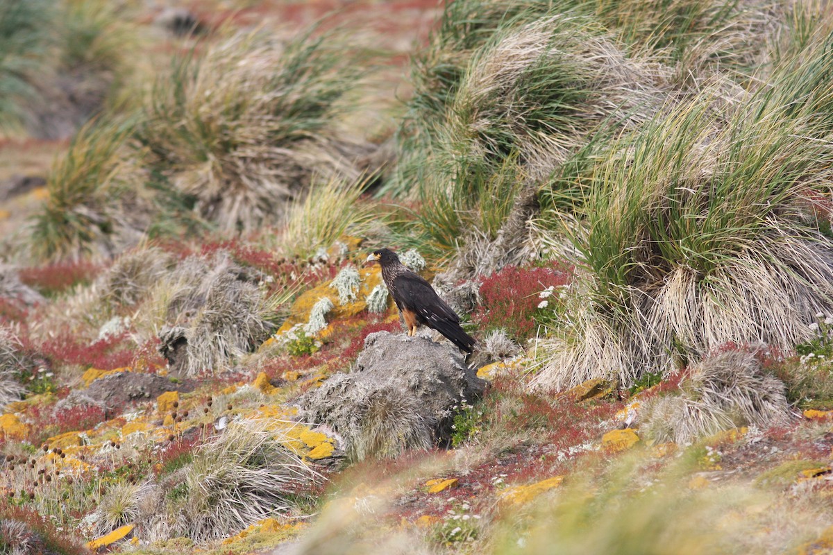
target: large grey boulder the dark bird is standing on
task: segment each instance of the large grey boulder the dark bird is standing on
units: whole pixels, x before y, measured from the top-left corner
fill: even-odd
[[[307,419],[340,434],[347,453],[362,460],[446,442],[455,409],[485,387],[449,345],[380,331],[367,336],[350,374],[332,376],[297,404]]]

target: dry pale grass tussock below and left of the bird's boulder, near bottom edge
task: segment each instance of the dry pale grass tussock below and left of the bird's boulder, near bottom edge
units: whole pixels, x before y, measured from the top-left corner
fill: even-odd
[[[280,434],[242,420],[194,453],[184,479],[182,533],[204,542],[295,511],[297,499],[321,477],[282,444],[290,439]]]

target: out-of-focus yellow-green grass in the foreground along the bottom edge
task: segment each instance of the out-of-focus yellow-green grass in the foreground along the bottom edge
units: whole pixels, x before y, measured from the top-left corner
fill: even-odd
[[[586,473],[566,480],[554,500],[526,512],[531,518],[508,518],[492,553],[763,554],[794,548],[826,526],[811,503],[779,503],[736,484],[691,490],[680,468],[649,475],[652,483],[631,459],[603,480]],[[728,515],[737,517],[731,526]]]

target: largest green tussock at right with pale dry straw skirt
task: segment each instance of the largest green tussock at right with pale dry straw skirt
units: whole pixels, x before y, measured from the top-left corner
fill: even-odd
[[[621,140],[591,172],[572,242],[586,300],[551,339],[534,384],[629,384],[728,341],[809,339],[833,302],[833,248],[808,211],[826,194],[831,136],[823,40],[728,114],[701,97]]]

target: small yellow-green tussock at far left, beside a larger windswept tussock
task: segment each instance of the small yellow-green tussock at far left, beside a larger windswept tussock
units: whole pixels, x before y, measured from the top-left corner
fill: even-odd
[[[112,255],[140,239],[151,205],[127,153],[127,131],[127,123],[92,121],[55,161],[27,237],[34,259]]]

